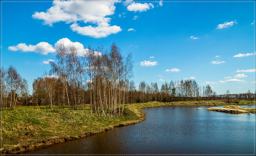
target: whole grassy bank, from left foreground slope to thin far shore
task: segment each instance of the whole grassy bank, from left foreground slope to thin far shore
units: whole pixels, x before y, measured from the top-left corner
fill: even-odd
[[[247,104],[247,103],[243,103]],[[238,105],[243,105],[238,104]],[[254,104],[248,103],[248,104]],[[2,110],[2,148],[4,153],[12,153],[33,147],[47,146],[61,141],[78,139],[109,130],[113,127],[131,125],[145,120],[143,108],[157,106],[219,106],[221,101],[177,101],[170,103],[148,102],[127,104],[123,117],[104,117],[91,114],[89,105],[85,110],[46,106],[19,106],[15,110]]]

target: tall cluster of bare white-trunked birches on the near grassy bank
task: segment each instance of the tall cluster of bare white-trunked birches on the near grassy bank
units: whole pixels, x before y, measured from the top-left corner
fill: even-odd
[[[49,75],[34,80],[34,98],[39,105],[60,104],[77,109],[90,104],[91,113],[121,116],[127,103],[129,79],[132,77],[132,54],[127,58],[113,43],[110,50],[89,46],[78,56],[75,47],[61,44],[56,50],[57,63],[50,62]]]

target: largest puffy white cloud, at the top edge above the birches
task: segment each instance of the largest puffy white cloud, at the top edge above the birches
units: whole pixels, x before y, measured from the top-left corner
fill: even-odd
[[[121,31],[119,26],[110,26],[110,17],[113,15],[117,1],[53,1],[53,7],[46,12],[35,12],[32,17],[44,20],[45,25],[52,26],[53,23],[73,23],[70,28],[84,36],[101,38]],[[77,21],[83,23],[97,24],[96,27],[80,27]]]

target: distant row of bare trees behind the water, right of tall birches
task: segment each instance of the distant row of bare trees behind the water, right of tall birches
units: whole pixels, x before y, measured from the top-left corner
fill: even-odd
[[[211,90],[210,85],[201,87],[197,84],[195,79],[181,79],[180,82],[170,83],[165,82],[162,84],[160,90],[158,89],[157,82],[140,82],[139,95],[137,102],[148,101],[200,101],[200,100],[214,100],[217,93]]]

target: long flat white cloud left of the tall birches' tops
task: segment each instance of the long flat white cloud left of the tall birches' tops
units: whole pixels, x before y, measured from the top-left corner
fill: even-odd
[[[12,51],[23,51],[23,52],[38,52],[42,55],[47,55],[49,52],[55,52],[53,46],[48,44],[48,42],[39,42],[37,45],[26,45],[25,43],[20,43],[16,46],[8,47],[8,50]]]

